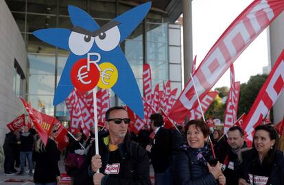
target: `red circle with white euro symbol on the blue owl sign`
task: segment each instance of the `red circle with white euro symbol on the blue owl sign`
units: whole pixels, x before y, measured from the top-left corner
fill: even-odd
[[[82,58],[75,62],[71,69],[71,82],[75,88],[84,92],[92,90],[99,82],[99,69],[93,63],[90,65],[90,70],[87,69],[88,61]]]

